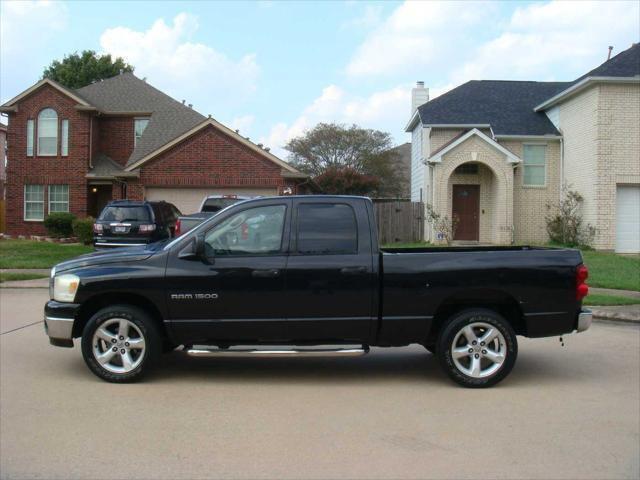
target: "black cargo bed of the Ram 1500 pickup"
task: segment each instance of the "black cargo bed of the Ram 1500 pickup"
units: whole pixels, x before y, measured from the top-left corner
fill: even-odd
[[[571,331],[578,250],[528,246],[381,249],[378,338],[401,344],[465,304],[503,309],[529,337]],[[394,320],[394,321],[385,321]],[[400,327],[400,328],[399,328]]]

